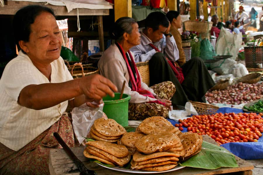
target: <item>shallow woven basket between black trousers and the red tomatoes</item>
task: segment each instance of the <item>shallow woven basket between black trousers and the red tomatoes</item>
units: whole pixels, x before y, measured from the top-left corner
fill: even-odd
[[[216,113],[217,110],[219,109],[218,106],[214,106],[211,104],[201,103],[198,101],[190,101],[190,102],[199,115],[208,115],[208,114],[211,115]]]

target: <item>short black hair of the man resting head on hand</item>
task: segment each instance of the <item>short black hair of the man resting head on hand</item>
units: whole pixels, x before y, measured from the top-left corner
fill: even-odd
[[[158,30],[159,26],[169,27],[169,20],[162,12],[152,12],[145,19],[145,28]]]

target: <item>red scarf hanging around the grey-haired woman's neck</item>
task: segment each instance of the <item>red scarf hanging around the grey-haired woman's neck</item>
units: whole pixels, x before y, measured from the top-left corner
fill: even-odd
[[[122,54],[122,56],[123,56],[123,58],[124,58],[124,60],[126,62],[127,69],[128,69],[128,72],[129,72],[129,78],[130,78],[130,81],[131,81],[131,90],[139,92],[139,94],[141,94],[141,95],[143,95],[145,97],[155,98],[150,91],[141,88],[141,77],[139,76],[139,71],[138,71],[138,69],[136,67],[136,64],[135,64],[134,59],[133,59],[133,57],[131,55],[131,52],[128,50],[128,54],[129,54],[130,59],[131,59],[131,64],[132,64],[132,66],[135,69],[135,73],[136,73],[136,77],[137,77],[136,81],[135,81],[135,78],[133,76],[131,67],[129,65],[128,58],[126,57],[126,54],[124,53],[124,50],[123,50],[122,46],[119,43],[116,43],[116,45],[120,49],[120,52],[121,52],[121,54]],[[148,103],[158,103],[158,104],[162,104],[162,105],[165,106],[165,103],[163,103],[163,102],[161,102],[159,100],[149,101]]]

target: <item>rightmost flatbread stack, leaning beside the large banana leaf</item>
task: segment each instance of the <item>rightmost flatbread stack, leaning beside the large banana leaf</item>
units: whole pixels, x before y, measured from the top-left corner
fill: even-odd
[[[184,132],[179,136],[184,147],[185,155],[181,157],[182,161],[187,160],[200,152],[202,148],[203,137],[197,133]]]

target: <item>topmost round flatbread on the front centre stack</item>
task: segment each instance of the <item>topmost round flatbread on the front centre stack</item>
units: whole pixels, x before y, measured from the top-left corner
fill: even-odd
[[[171,132],[160,132],[143,136],[135,142],[138,151],[142,153],[155,153],[169,149],[180,142],[178,136]]]

